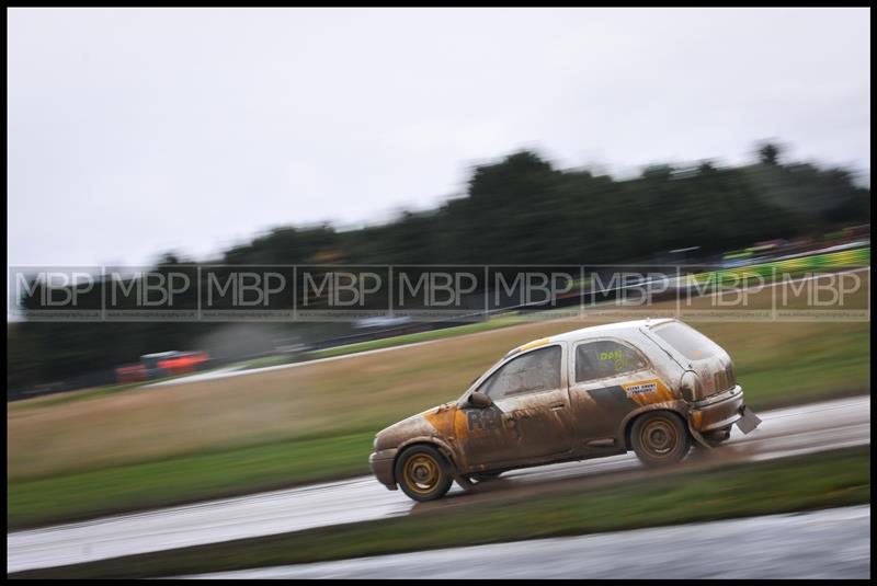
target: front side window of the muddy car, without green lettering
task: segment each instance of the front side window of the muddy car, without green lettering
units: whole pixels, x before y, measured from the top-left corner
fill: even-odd
[[[493,372],[479,391],[493,401],[510,394],[560,388],[560,346],[529,352]]]

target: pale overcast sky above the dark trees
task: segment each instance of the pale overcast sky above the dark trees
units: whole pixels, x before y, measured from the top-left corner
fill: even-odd
[[[738,163],[775,137],[869,175],[870,13],[11,10],[10,265],[205,260],[386,220],[521,147]]]

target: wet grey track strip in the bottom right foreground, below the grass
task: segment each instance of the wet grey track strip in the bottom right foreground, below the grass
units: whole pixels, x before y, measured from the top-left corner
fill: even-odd
[[[636,551],[637,555],[629,555]],[[870,577],[870,506],[377,555],[195,578]]]

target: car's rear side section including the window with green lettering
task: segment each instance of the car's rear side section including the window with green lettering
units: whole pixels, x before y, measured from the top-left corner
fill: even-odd
[[[623,451],[618,435],[625,416],[647,402],[673,399],[646,355],[625,340],[584,340],[570,351],[577,452]]]

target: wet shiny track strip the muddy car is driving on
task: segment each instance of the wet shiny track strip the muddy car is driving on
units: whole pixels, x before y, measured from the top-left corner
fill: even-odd
[[[681,467],[766,460],[870,444],[868,397],[762,412],[759,416],[763,424],[749,436],[734,428],[722,448],[706,453],[694,451]],[[491,493],[497,491],[510,496],[589,487],[656,473],[660,472],[646,471],[628,453],[508,472],[499,480],[476,486],[471,493],[464,493],[455,485],[447,497],[418,505],[400,491],[387,491],[372,476],[361,476],[9,533],[7,572],[418,514],[496,498]],[[868,541],[864,542],[869,547]],[[597,575],[602,574],[594,574]]]

